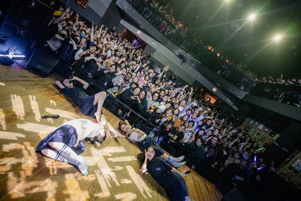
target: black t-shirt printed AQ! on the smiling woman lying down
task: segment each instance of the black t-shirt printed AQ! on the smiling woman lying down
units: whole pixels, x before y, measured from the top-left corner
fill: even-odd
[[[152,161],[147,162],[146,168],[154,180],[167,190],[172,189],[177,179],[181,177],[179,174],[171,172],[172,167],[162,158],[156,157]]]

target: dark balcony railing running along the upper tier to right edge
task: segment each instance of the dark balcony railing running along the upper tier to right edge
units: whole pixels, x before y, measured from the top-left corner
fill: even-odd
[[[126,1],[167,39],[185,50],[185,52],[189,53],[194,59],[200,61],[209,70],[219,74],[222,78],[234,84],[241,90],[272,101],[297,107],[298,105],[301,105],[301,87],[257,83],[250,76],[244,75],[237,69],[232,68],[232,66],[227,65],[225,60],[219,59],[219,57],[209,51],[206,46],[201,45],[199,41],[195,41],[193,37],[186,35],[183,28],[170,21],[167,16],[158,9],[153,8],[150,1]]]

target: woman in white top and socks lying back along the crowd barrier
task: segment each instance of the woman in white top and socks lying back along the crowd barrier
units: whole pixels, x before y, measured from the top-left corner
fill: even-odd
[[[130,126],[127,120],[125,120],[125,123],[119,123],[119,129],[126,133],[126,136],[132,142],[137,142],[137,145],[142,152],[149,146],[155,146],[157,148],[158,156],[163,158],[165,161],[172,163],[176,168],[186,164],[186,162],[179,163],[184,159],[184,156],[178,158],[168,156],[166,153],[163,152],[162,148],[160,147],[160,145],[157,144],[154,138],[147,136],[145,132],[139,129],[135,129],[134,127],[130,129],[131,127],[132,126]]]

